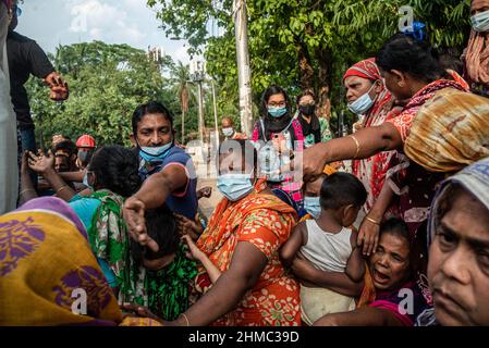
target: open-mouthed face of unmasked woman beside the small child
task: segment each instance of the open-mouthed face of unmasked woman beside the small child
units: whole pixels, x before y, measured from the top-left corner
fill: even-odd
[[[377,251],[370,257],[370,274],[379,290],[393,290],[409,275],[409,243],[393,233],[380,236]]]

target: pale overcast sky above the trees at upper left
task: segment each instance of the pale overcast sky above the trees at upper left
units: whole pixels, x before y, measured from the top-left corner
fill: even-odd
[[[16,32],[47,52],[60,44],[101,40],[144,50],[159,46],[174,61],[188,62],[186,42],[164,36],[146,0],[25,0],[20,7]]]

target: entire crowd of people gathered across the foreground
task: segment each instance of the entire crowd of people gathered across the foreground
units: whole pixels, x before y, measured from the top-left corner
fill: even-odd
[[[20,41],[0,50],[0,325],[489,325],[488,0],[472,1],[463,71],[409,33],[347,69],[351,135],[277,85],[252,134],[222,117],[208,220],[160,102],[134,110],[131,148],[36,149],[23,84],[53,100],[68,84],[20,63],[39,51],[13,32],[16,2],[0,7],[0,46]]]

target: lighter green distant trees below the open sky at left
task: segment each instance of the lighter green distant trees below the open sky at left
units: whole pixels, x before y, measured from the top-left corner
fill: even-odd
[[[98,144],[129,145],[133,111],[149,100],[163,102],[173,112],[174,128],[179,132],[184,86],[186,133],[196,133],[198,109],[192,98],[196,87],[185,84],[187,65],[174,63],[169,57],[156,62],[142,50],[100,41],[61,46],[50,58],[70,85],[70,98],[56,103],[40,80],[29,79],[26,87],[39,144],[49,146],[53,134],[76,139],[88,133]],[[205,96],[209,104],[211,96],[209,92]],[[206,112],[207,124],[212,122],[210,110]]]

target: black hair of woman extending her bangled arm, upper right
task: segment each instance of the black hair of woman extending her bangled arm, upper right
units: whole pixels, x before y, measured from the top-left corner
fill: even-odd
[[[417,80],[432,83],[447,75],[439,63],[439,54],[427,41],[417,41],[398,33],[380,49],[377,65],[386,72],[398,70]]]

